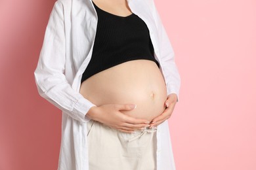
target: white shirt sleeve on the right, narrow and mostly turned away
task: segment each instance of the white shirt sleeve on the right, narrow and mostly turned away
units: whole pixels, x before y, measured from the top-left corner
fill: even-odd
[[[154,19],[158,27],[158,37],[160,42],[160,56],[161,56],[161,61],[163,63],[161,65],[161,68],[165,76],[167,94],[168,95],[171,93],[177,94],[177,97],[178,97],[177,101],[179,101],[181,76],[179,75],[179,71],[175,63],[175,53],[173,51],[173,46],[169,41],[169,37],[165,31],[165,27],[161,22],[160,14],[156,9],[154,0],[152,0],[152,6],[153,6],[152,9],[153,9]]]

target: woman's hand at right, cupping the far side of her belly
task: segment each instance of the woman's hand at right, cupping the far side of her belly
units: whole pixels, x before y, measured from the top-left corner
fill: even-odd
[[[156,127],[163,123],[165,120],[171,117],[175,105],[177,103],[177,94],[171,93],[167,96],[167,100],[165,101],[166,109],[163,111],[160,116],[154,118],[152,122],[150,122],[150,127]]]

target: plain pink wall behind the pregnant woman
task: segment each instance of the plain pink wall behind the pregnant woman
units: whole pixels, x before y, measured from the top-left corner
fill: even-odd
[[[168,3],[168,4],[167,4]],[[0,169],[57,169],[61,114],[36,90],[54,1],[0,1]],[[256,169],[256,1],[157,0],[181,74],[177,170]]]

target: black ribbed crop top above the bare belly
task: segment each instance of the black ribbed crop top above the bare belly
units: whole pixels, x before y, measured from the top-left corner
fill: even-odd
[[[147,25],[136,14],[117,16],[98,8],[98,24],[91,60],[81,82],[125,61],[148,59],[156,62]]]

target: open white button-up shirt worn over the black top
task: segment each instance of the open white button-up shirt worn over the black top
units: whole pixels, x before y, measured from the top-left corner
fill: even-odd
[[[179,98],[181,78],[175,54],[154,0],[127,0],[129,8],[148,26],[154,56],[166,82],[167,93]],[[96,10],[91,0],[57,0],[49,17],[35,82],[41,97],[62,110],[62,139],[58,170],[87,170],[88,110],[95,106],[79,88],[95,41]],[[175,170],[167,120],[157,131],[158,170]],[[131,169],[132,170],[132,169]]]

